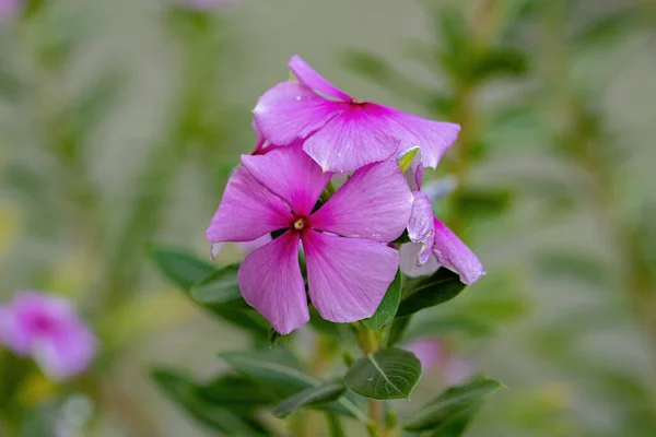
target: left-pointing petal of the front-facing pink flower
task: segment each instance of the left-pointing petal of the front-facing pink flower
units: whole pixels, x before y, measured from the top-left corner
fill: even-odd
[[[230,178],[206,236],[211,243],[253,241],[293,222],[284,202],[244,167]]]

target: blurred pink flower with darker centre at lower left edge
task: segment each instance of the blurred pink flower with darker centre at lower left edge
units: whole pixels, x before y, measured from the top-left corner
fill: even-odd
[[[0,343],[16,355],[32,356],[55,380],[86,369],[96,340],[69,300],[37,292],[19,292],[0,306]]]

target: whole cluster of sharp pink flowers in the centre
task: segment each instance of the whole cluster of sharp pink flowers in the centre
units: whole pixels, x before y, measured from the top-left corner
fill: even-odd
[[[400,253],[412,259],[401,265],[440,263],[467,284],[478,280],[477,257],[421,191],[424,166],[437,165],[459,127],[358,101],[298,56],[289,67],[296,80],[259,98],[257,147],[242,156],[207,231],[213,245],[265,237],[239,268],[246,302],[282,334],[309,320],[306,283],[324,319],[371,317],[399,268],[391,241],[406,231],[412,243]],[[399,161],[409,151],[414,160],[403,174]],[[321,196],[340,174],[348,180]]]

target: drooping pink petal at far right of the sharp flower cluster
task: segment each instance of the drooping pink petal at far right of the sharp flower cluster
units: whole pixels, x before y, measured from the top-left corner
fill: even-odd
[[[465,284],[473,284],[485,271],[477,256],[437,217],[435,223],[435,245],[433,253],[445,268],[460,275]]]

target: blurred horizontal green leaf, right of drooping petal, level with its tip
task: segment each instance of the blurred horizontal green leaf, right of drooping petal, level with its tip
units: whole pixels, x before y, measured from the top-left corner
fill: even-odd
[[[542,250],[537,255],[536,265],[547,277],[574,279],[599,287],[612,281],[606,263],[593,253]]]

